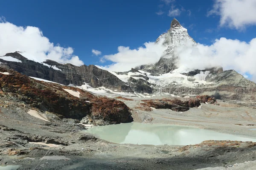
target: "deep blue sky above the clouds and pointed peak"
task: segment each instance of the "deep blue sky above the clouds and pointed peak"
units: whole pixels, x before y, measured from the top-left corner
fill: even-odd
[[[55,45],[72,47],[86,65],[102,65],[100,58],[116,54],[119,46],[134,49],[154,42],[174,17],[204,45],[221,37],[245,42],[255,38],[253,19],[245,27],[241,22],[238,27],[220,26],[223,15],[207,16],[220,1],[230,0],[8,0],[1,2],[0,16],[16,26],[40,28]],[[92,49],[102,54],[93,55]]]

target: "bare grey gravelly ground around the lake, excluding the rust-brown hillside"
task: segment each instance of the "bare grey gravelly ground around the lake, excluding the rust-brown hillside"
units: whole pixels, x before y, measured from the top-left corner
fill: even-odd
[[[134,122],[183,125],[256,137],[255,130],[250,130],[255,122],[255,109],[247,106],[218,101],[219,105],[202,104],[201,109],[190,108],[183,113],[167,109],[141,111],[136,108],[141,98],[131,99],[120,100],[131,108]],[[19,170],[196,170],[228,166],[231,170],[248,170],[249,164],[250,168],[256,167],[256,143],[252,142],[207,141],[189,146],[114,144],[81,133],[85,127],[71,119],[47,122],[11,110],[1,113],[0,164],[21,165]]]

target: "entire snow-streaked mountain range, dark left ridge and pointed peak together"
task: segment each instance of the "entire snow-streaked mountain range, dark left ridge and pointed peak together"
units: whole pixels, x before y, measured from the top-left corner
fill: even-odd
[[[172,20],[170,29],[157,38],[158,42],[163,42],[166,50],[157,63],[126,72],[105,71],[94,65],[78,67],[52,60],[38,62],[20,52],[0,57],[0,67],[106,96],[190,97],[207,94],[217,99],[255,103],[256,84],[234,70],[177,67],[179,56],[175,54],[175,48],[188,43],[196,45],[196,42],[176,19]]]

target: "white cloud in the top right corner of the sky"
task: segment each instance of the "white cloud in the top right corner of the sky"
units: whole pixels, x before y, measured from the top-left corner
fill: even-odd
[[[215,0],[208,16],[220,15],[220,26],[244,29],[256,25],[256,0]]]

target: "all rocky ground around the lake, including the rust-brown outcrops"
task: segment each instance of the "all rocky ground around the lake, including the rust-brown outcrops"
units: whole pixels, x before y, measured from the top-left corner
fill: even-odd
[[[86,133],[87,127],[83,125],[166,123],[256,137],[249,130],[256,120],[253,107],[229,104],[210,96],[110,99],[79,88],[35,80],[6,68],[0,68],[0,72],[0,164],[4,168],[8,165],[19,170],[256,167],[253,142],[204,141],[189,146],[114,144]],[[224,119],[227,115],[229,119]]]

